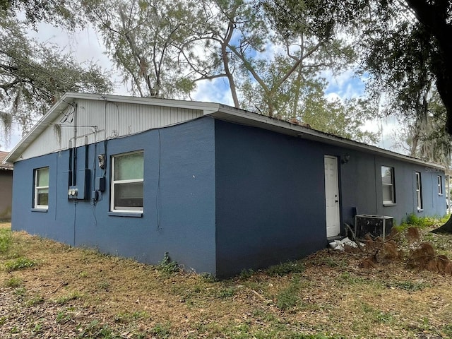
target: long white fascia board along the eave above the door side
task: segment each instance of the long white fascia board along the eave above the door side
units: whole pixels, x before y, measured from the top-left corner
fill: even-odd
[[[344,148],[351,148],[353,150],[360,150],[365,153],[371,153],[374,155],[381,155],[384,157],[391,157],[397,160],[403,160],[405,162],[415,163],[417,165],[434,167],[436,169],[446,170],[443,165],[435,164],[434,162],[428,162],[418,159],[416,157],[410,157],[400,153],[393,152],[391,150],[384,150],[373,145],[367,145],[365,143],[359,143],[349,139],[341,138],[339,136],[333,136],[332,134],[316,131],[308,127],[292,124],[288,121],[270,118],[261,114],[253,112],[247,112],[242,109],[235,109],[233,107],[227,107],[221,105],[218,112],[210,114],[212,117],[222,119],[225,121],[235,122],[237,124],[244,124],[247,126],[255,126],[262,129],[268,129],[278,133],[284,133],[297,138],[303,138],[311,141],[319,141],[327,143],[329,145],[336,145]]]

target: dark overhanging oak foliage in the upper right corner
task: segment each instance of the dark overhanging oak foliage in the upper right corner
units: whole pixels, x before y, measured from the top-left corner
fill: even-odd
[[[288,34],[309,28],[324,41],[346,34],[347,44],[359,54],[345,54],[359,64],[358,74],[366,76],[369,94],[386,99],[384,113],[417,124],[438,112],[427,102],[439,94],[444,107],[437,121],[442,123],[433,124],[432,132],[444,135],[445,121],[446,131],[452,131],[448,95],[452,58],[450,40],[443,33],[452,28],[450,1],[438,5],[436,1],[357,0],[347,6],[339,0],[264,2],[275,25]],[[419,140],[417,133],[412,136]],[[442,147],[438,146],[433,148]]]

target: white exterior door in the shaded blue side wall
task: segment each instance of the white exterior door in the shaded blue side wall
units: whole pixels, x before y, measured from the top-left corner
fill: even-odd
[[[340,234],[338,158],[325,155],[326,237]]]

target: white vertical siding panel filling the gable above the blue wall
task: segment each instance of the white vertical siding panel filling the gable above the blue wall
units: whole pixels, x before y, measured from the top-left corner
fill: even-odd
[[[78,100],[76,117],[71,112],[73,107],[66,109],[66,112],[61,113],[59,118],[49,124],[23,152],[22,158],[28,159],[69,148],[69,141],[74,138],[75,121],[77,121],[77,146],[81,146],[85,144],[85,136],[88,143],[96,143],[180,124],[203,116],[203,112],[196,109],[98,100]],[[68,119],[64,121],[66,116]],[[60,126],[61,134],[54,125]]]

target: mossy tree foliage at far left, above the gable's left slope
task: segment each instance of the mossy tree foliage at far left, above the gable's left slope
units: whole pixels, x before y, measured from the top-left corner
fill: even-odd
[[[39,9],[49,13],[49,7],[38,6],[35,13]],[[112,83],[100,66],[78,64],[56,45],[31,40],[27,35],[30,25],[16,18],[14,11],[0,12],[0,18],[0,125],[5,141],[11,124],[19,124],[23,133],[27,132],[66,92],[112,91]]]

